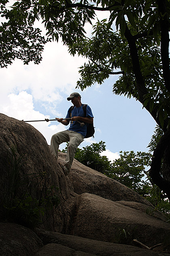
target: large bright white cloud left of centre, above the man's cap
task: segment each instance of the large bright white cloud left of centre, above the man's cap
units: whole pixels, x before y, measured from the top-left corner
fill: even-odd
[[[30,89],[35,100],[60,100],[61,91],[69,94],[75,88],[78,67],[83,63],[81,56],[70,56],[62,42],[47,43],[39,65],[23,65],[22,61],[15,60],[7,69],[0,69],[2,93]]]

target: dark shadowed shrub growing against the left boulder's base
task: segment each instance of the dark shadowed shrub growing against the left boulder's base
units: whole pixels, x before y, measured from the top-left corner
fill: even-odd
[[[17,158],[15,148],[8,150],[8,173],[5,178],[4,192],[0,206],[3,208],[4,219],[14,221],[29,228],[35,228],[43,223],[43,216],[49,210],[56,208],[59,198],[56,194],[58,188],[46,187],[48,177],[45,173],[30,174],[21,176],[19,171],[22,165],[23,156]],[[41,178],[34,190],[30,188],[31,182]],[[39,197],[34,197],[38,185],[42,185]]]

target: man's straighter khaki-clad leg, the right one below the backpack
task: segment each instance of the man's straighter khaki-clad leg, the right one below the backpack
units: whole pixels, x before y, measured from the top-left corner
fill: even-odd
[[[66,172],[70,171],[77,147],[80,145],[80,143],[84,139],[84,137],[80,133],[73,132],[73,131],[70,131],[69,137],[70,137],[70,142],[68,143],[66,162],[64,164],[64,167],[66,167]]]

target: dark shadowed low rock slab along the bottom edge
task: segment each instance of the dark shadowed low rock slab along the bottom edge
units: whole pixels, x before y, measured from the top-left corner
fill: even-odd
[[[37,230],[37,235],[44,243],[44,247],[36,254],[36,256],[55,256],[55,251],[61,248],[61,254],[64,256],[163,256],[163,253],[152,252],[149,249],[142,249],[131,245],[120,245],[103,241],[82,238],[47,230]],[[63,247],[59,247],[59,246]],[[69,250],[69,248],[72,249]],[[47,250],[50,250],[50,254]],[[54,250],[54,251],[53,251]],[[59,249],[60,250],[60,249]],[[65,254],[63,254],[63,252]],[[45,254],[46,253],[46,254]],[[72,254],[71,254],[72,253]],[[83,254],[84,253],[84,254]],[[86,254],[85,254],[86,253]]]

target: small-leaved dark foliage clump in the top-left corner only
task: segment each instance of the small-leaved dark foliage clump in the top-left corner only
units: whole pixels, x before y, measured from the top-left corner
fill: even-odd
[[[10,11],[9,8],[5,8],[7,2],[1,1],[0,5],[0,67],[7,67],[15,58],[21,59],[24,64],[30,61],[40,63],[44,45],[50,39],[45,39],[41,36],[39,28],[33,28],[26,21],[26,10],[16,10],[15,3]]]

